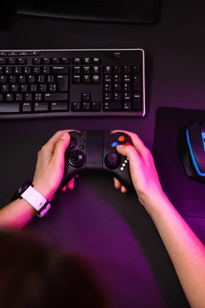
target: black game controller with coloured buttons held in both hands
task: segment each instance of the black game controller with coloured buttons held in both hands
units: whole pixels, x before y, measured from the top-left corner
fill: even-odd
[[[76,175],[89,170],[112,172],[126,188],[132,189],[129,160],[116,149],[117,145],[132,145],[128,134],[109,130],[84,130],[69,132],[71,140],[65,152],[64,177],[59,188],[68,184]]]

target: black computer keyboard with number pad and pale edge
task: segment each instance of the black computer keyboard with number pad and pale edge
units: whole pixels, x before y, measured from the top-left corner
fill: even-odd
[[[0,119],[145,115],[144,51],[0,51]]]

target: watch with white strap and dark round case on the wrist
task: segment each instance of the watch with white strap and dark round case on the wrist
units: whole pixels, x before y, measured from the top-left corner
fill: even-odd
[[[26,181],[20,186],[12,197],[12,201],[24,198],[37,211],[37,216],[43,217],[51,207],[49,200],[44,198],[37,190],[33,188],[31,180]]]

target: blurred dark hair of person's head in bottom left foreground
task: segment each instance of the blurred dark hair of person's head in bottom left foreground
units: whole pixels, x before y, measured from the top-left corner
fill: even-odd
[[[105,308],[87,261],[18,232],[0,232],[1,308]]]

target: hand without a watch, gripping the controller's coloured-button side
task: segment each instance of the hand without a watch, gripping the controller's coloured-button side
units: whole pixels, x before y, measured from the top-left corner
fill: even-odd
[[[111,133],[113,134],[118,131],[128,134],[134,145],[118,145],[117,151],[129,159],[130,173],[134,188],[140,203],[146,207],[149,200],[163,194],[153,156],[137,134],[124,130],[114,130]],[[127,191],[127,189],[115,178],[114,184],[117,189],[121,188],[122,192]]]

